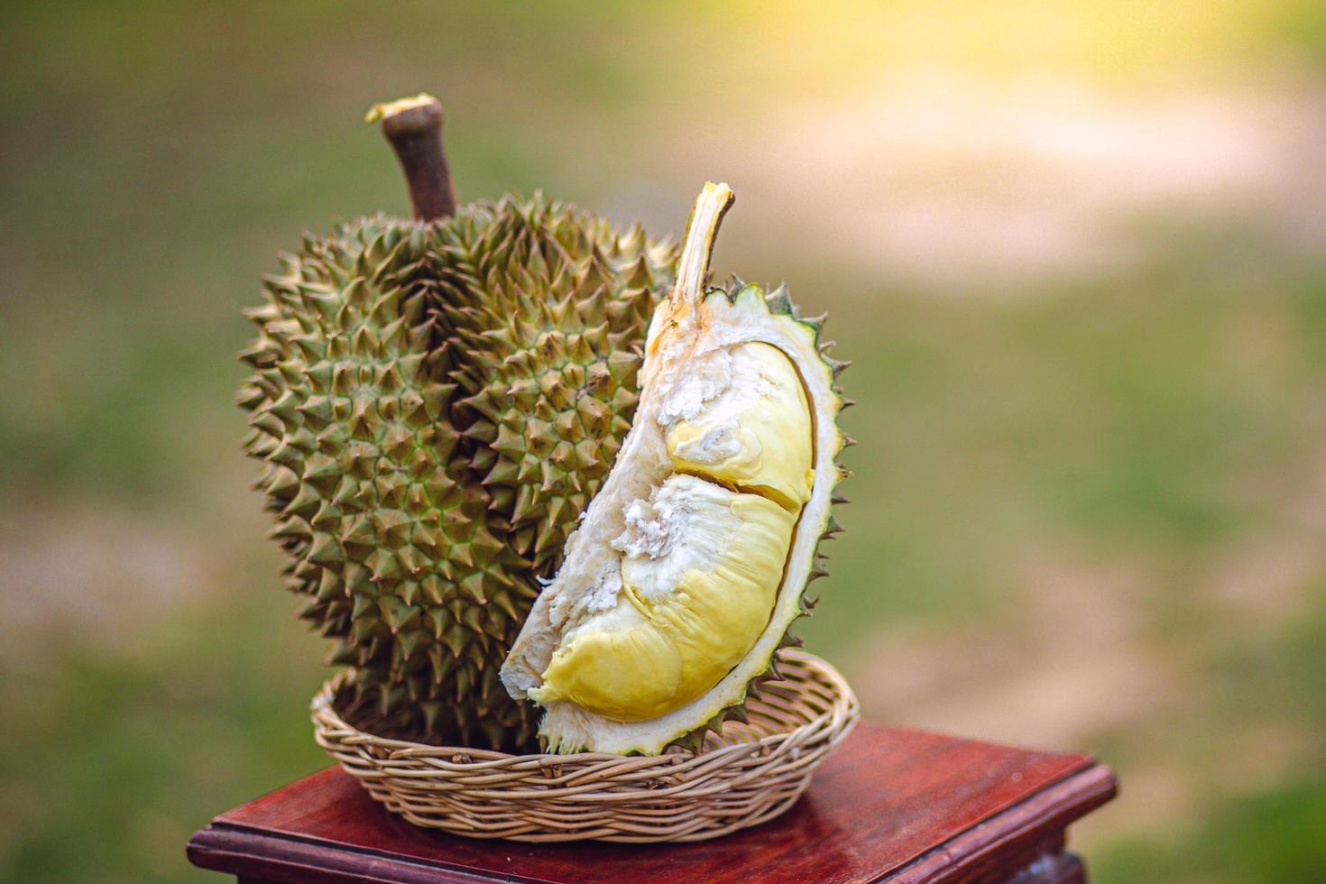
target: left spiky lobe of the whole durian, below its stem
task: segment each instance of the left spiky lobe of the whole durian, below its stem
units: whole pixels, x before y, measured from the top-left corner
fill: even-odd
[[[251,313],[241,390],[267,461],[259,488],[290,554],[301,615],[357,668],[378,714],[450,704],[442,736],[529,740],[492,660],[534,590],[468,481],[450,421],[452,354],[435,346],[432,227],[374,217],[305,240]]]

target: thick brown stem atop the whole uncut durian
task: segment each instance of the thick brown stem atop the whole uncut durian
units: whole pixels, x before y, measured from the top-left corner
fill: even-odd
[[[382,121],[382,134],[400,160],[416,221],[456,213],[456,187],[442,147],[442,105],[427,93],[374,105],[366,122]]]

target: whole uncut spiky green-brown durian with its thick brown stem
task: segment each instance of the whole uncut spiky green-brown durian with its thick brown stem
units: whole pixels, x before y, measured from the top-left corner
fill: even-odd
[[[379,105],[414,219],[306,236],[243,355],[302,616],[383,736],[526,749],[497,668],[615,457],[675,249],[534,196],[457,208],[430,95]]]

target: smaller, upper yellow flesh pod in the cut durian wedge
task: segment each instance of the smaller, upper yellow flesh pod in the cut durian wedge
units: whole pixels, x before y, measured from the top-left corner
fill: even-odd
[[[729,351],[732,380],[693,419],[667,431],[674,469],[797,510],[810,497],[812,425],[792,362],[768,343]]]

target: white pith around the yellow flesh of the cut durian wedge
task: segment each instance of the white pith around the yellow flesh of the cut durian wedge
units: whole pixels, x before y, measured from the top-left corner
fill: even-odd
[[[501,671],[507,689],[514,697],[526,697],[541,684],[541,673],[558,645],[587,623],[598,630],[630,622],[634,608],[618,604],[623,554],[666,559],[687,530],[682,497],[663,489],[675,473],[666,441],[668,428],[704,410],[703,437],[690,443],[684,456],[692,461],[720,456],[732,451],[736,416],[761,395],[757,372],[752,374],[740,354],[733,357],[741,345],[762,342],[778,349],[800,375],[814,436],[810,494],[793,531],[773,612],[740,661],[700,698],[647,721],[614,721],[573,702],[552,701],[540,732],[554,751],[656,754],[725,706],[740,702],[800,612],[815,546],[829,520],[838,480],[834,457],[842,445],[834,420],[841,404],[813,329],[790,315],[770,313],[764,294],[753,286],[743,289],[735,302],[720,290],[700,296],[708,249],[699,266],[692,264],[688,272],[693,250],[688,248],[692,254],[683,254],[678,289],[659,305],[650,326],[631,431],[579,529],[568,541],[561,570],[534,602],[507,657]],[[695,292],[684,290],[688,278]],[[667,584],[667,574],[660,570],[646,582],[652,587],[646,591],[666,592]]]

